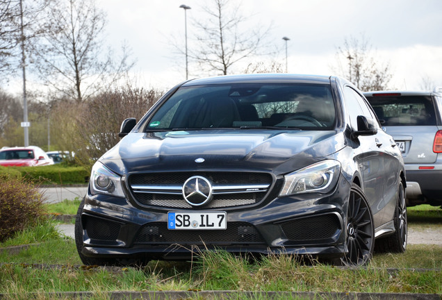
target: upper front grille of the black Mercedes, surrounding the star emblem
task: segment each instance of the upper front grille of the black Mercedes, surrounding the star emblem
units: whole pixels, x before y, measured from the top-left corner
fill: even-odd
[[[129,186],[141,206],[193,208],[183,199],[183,184],[192,176],[211,181],[213,198],[201,208],[246,206],[261,201],[272,185],[272,175],[252,172],[175,172],[133,174]]]

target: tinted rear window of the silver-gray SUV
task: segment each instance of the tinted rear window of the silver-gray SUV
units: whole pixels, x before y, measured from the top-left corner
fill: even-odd
[[[432,97],[367,97],[382,126],[436,125]]]

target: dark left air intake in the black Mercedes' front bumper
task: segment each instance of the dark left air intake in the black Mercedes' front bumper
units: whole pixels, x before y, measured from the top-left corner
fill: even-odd
[[[120,233],[120,224],[97,217],[83,217],[83,227],[94,240],[117,240]]]

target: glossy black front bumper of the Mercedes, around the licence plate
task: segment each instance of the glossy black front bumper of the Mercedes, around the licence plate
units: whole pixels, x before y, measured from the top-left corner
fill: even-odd
[[[130,201],[88,194],[81,221],[85,256],[181,260],[206,249],[231,253],[288,253],[337,258],[345,247],[346,201],[350,187],[338,183],[327,195],[277,198],[226,211],[226,230],[168,230],[167,212],[136,208]],[[188,210],[190,211],[190,210]],[[195,212],[195,210],[191,210]]]

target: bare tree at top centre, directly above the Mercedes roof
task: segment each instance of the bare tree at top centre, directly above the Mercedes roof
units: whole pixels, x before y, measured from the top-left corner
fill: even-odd
[[[229,68],[249,56],[259,54],[267,31],[242,31],[247,21],[240,15],[240,3],[231,0],[211,0],[202,8],[206,18],[195,22],[195,42],[189,56],[206,72],[228,74]]]

